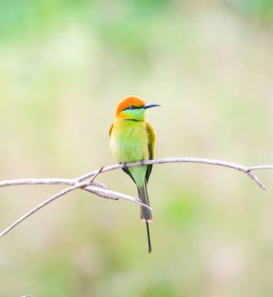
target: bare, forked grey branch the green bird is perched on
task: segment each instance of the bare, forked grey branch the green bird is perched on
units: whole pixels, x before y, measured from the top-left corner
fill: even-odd
[[[260,181],[260,179],[252,173],[253,170],[262,170],[262,169],[273,169],[273,165],[264,165],[264,166],[252,166],[252,167],[246,167],[240,164],[226,162],[226,161],[220,161],[220,160],[213,160],[213,159],[201,159],[201,158],[165,158],[165,159],[158,159],[158,160],[147,160],[144,161],[144,164],[163,164],[163,163],[201,163],[201,164],[211,164],[211,165],[218,165],[218,166],[224,166],[232,169],[236,169],[238,171],[241,171],[248,175],[252,180],[255,181],[256,184],[260,186],[263,190],[265,190],[264,185]],[[141,162],[136,163],[126,163],[126,166],[137,166],[142,165]],[[95,177],[102,173],[107,172],[110,170],[115,170],[122,168],[124,164],[118,164],[118,165],[112,165],[108,167],[102,167],[99,170],[95,170],[92,172],[89,172],[87,174],[84,174],[82,176],[79,176],[75,179],[64,179],[64,178],[48,178],[48,179],[17,179],[17,180],[6,180],[0,182],[0,187],[8,187],[8,186],[19,186],[19,185],[69,185],[67,189],[62,190],[61,192],[57,193],[53,197],[45,200],[44,202],[40,203],[36,207],[34,207],[32,210],[27,212],[25,215],[23,215],[21,218],[19,218],[17,221],[15,221],[13,224],[11,224],[8,228],[6,228],[4,231],[0,233],[0,238],[4,236],[6,233],[8,233],[12,228],[14,228],[16,225],[18,225],[20,222],[22,222],[24,219],[29,217],[31,214],[36,212],[37,210],[41,209],[48,203],[52,202],[56,198],[59,198],[65,194],[67,194],[70,191],[76,190],[76,189],[82,189],[85,191],[88,191],[90,193],[93,193],[99,197],[102,198],[108,198],[108,199],[114,199],[117,200],[119,198],[124,198],[127,200],[131,200],[133,202],[136,202],[140,205],[144,205],[148,208],[149,206],[141,203],[141,201],[137,198],[121,194],[118,192],[110,191],[108,188],[99,182],[95,182]],[[85,179],[90,178],[91,179],[87,182],[83,182]],[[152,210],[152,208],[150,208]]]

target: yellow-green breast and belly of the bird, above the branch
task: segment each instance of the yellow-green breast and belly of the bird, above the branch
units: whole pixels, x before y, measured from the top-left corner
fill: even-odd
[[[117,121],[113,125],[110,145],[120,163],[138,162],[149,158],[145,122]]]

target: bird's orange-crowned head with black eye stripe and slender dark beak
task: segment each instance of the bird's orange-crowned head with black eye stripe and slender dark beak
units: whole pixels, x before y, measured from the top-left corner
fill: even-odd
[[[145,103],[136,96],[123,99],[116,108],[116,117],[128,120],[143,121],[147,108],[160,106],[159,104]]]

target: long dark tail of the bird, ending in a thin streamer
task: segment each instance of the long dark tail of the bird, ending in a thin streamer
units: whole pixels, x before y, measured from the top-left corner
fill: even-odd
[[[143,188],[137,187],[137,191],[138,191],[138,197],[141,200],[141,202],[150,206],[149,198],[148,198],[148,194],[147,194],[146,182],[144,183]],[[141,220],[141,222],[143,222],[143,221],[146,222],[147,238],[148,238],[148,251],[150,253],[152,251],[152,248],[151,248],[151,240],[150,240],[150,232],[149,232],[149,224],[148,223],[152,222],[152,214],[151,214],[151,211],[149,208],[147,208],[145,206],[140,206],[140,220]]]

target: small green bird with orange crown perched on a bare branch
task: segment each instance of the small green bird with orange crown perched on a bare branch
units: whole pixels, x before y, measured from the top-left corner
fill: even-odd
[[[152,164],[143,161],[153,159],[155,133],[153,127],[145,121],[146,110],[159,104],[145,103],[141,98],[129,96],[121,100],[116,107],[115,121],[109,127],[110,148],[122,170],[127,173],[137,187],[140,201],[149,204],[147,183]],[[141,165],[127,167],[126,163],[141,162]],[[148,253],[152,251],[148,223],[153,221],[149,208],[140,205],[140,220],[146,222]]]

